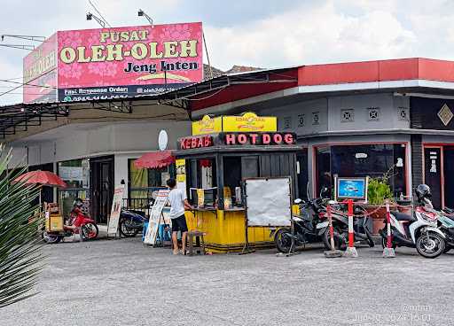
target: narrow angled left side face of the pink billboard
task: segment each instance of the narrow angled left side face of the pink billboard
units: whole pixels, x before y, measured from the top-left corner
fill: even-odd
[[[52,35],[23,62],[25,103],[57,100],[57,34]]]

